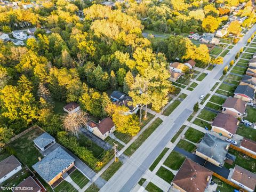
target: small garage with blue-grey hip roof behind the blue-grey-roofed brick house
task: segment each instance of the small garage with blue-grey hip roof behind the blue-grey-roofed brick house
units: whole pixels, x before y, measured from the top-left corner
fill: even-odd
[[[42,151],[45,151],[55,143],[54,137],[52,137],[52,135],[50,135],[47,132],[41,134],[39,137],[37,137],[33,141],[35,143],[35,146]]]

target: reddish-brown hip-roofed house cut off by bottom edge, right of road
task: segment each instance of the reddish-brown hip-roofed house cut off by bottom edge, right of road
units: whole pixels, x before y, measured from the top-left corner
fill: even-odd
[[[172,180],[173,187],[179,191],[205,191],[213,172],[186,158]]]

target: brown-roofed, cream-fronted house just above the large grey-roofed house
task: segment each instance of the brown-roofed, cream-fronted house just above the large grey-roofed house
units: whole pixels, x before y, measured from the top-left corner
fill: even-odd
[[[212,131],[231,138],[236,133],[238,124],[239,121],[233,115],[219,113],[212,123]]]

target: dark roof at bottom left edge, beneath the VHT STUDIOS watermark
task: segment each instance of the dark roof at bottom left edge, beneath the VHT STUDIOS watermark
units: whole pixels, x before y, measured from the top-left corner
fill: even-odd
[[[29,188],[30,190],[21,190],[23,188]],[[23,180],[19,185],[17,185],[16,187],[14,187],[14,189],[12,190],[13,192],[41,192],[41,187],[37,184],[37,182],[31,177],[29,176],[27,179]]]

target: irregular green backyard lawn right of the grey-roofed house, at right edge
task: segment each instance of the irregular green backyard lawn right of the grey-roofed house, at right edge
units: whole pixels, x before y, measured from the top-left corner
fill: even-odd
[[[227,163],[224,164],[224,166],[228,169],[230,168],[234,168],[235,165],[239,165],[241,167],[243,167],[244,169],[251,171],[251,172],[256,172],[256,159],[249,157],[249,159],[245,159],[243,158],[243,154],[240,153],[239,151],[235,150],[235,149],[231,149],[229,148],[228,153],[235,155],[236,156],[236,160],[233,163],[233,165],[229,165]]]

